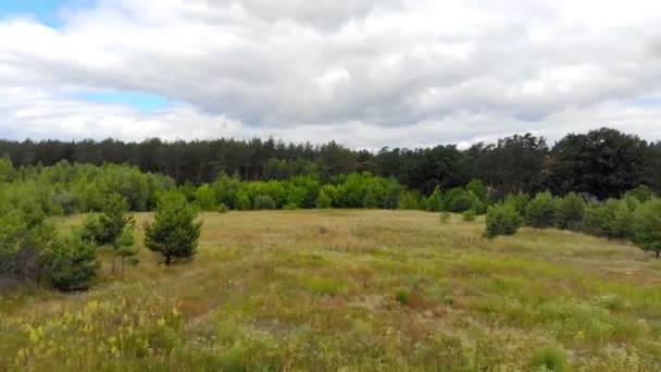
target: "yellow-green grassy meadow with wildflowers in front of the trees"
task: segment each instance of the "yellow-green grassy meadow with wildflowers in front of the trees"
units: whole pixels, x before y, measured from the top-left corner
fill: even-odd
[[[2,298],[0,370],[661,370],[661,263],[629,245],[415,211],[203,220],[191,263],[142,249],[121,278],[105,252],[89,293]]]

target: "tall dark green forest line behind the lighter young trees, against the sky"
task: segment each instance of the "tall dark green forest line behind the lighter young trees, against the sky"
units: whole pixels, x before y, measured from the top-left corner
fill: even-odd
[[[661,193],[661,142],[612,128],[569,134],[552,146],[544,137],[513,135],[495,144],[432,148],[351,150],[335,141],[323,145],[262,140],[215,139],[142,142],[10,141],[0,140],[0,154],[17,166],[68,163],[132,164],[142,172],[167,175],[178,185],[215,182],[221,173],[241,181],[290,179],[316,175],[333,177],[370,172],[395,178],[409,189],[428,196],[436,188],[463,187],[482,179],[490,194],[554,195],[570,191],[600,200],[620,198],[627,190],[648,185]]]

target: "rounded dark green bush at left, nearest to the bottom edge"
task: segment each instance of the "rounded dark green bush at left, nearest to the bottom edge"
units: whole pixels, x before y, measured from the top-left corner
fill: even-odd
[[[100,268],[95,246],[78,234],[55,239],[46,257],[49,282],[63,292],[88,289]]]

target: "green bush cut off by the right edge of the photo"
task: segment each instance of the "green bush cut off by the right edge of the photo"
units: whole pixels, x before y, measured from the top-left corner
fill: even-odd
[[[661,252],[661,200],[654,199],[634,212],[634,244],[643,250],[653,251],[659,259]]]

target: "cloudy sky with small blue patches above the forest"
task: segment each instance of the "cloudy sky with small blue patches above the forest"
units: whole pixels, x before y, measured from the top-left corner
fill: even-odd
[[[0,0],[0,137],[661,139],[658,0]]]

